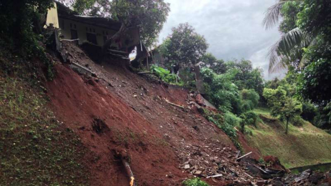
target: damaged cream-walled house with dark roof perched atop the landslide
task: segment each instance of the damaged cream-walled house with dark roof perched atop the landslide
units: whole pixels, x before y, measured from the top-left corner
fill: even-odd
[[[47,13],[46,26],[59,28],[61,39],[77,41],[83,49],[88,49],[86,51],[92,55],[91,58],[97,58],[106,41],[120,29],[121,22],[105,17],[77,15],[55,1],[54,7]],[[109,53],[128,59],[128,54],[135,46],[140,46],[139,29],[132,27],[111,42]]]

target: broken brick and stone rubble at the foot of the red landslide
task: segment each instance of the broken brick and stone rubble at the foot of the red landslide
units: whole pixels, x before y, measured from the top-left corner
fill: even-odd
[[[208,146],[185,144],[182,141],[178,158],[183,172],[191,173],[192,176],[238,183],[262,180],[249,172],[246,168],[249,163],[236,161],[238,152],[223,146],[219,141],[206,139],[205,144]]]

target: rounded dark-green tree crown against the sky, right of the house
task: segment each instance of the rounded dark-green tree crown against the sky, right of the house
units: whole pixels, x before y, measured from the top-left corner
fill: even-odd
[[[169,58],[171,65],[190,66],[199,62],[207,48],[204,36],[195,32],[188,23],[184,23],[172,28],[172,34],[161,46],[161,53]]]

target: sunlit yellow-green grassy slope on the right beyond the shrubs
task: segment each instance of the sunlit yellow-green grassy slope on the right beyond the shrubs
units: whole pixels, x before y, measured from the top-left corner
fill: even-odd
[[[305,122],[302,127],[285,124],[272,118],[266,109],[255,109],[263,122],[250,127],[253,135],[247,135],[248,143],[262,155],[277,156],[287,168],[331,162],[331,135]]]

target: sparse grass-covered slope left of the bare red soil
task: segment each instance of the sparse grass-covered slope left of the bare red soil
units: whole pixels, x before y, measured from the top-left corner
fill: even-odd
[[[86,186],[86,150],[47,109],[46,96],[0,76],[0,185]]]

